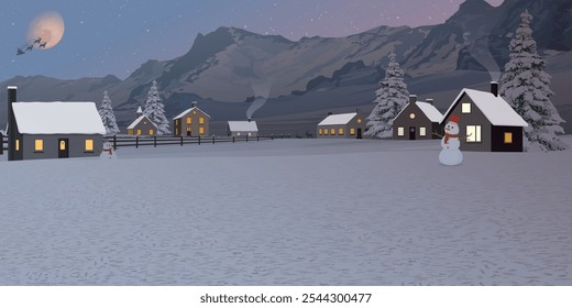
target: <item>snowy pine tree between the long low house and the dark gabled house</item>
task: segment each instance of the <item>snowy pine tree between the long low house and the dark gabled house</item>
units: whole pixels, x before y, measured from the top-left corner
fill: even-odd
[[[367,117],[369,130],[365,136],[389,139],[393,136],[393,121],[397,113],[409,101],[409,91],[404,81],[404,72],[396,61],[395,52],[389,54],[389,65],[385,78],[380,82],[375,92],[375,108]]]

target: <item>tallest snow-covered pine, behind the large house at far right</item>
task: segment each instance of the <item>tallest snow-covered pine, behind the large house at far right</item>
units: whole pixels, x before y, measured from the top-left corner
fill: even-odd
[[[550,101],[550,75],[544,72],[546,64],[537,53],[532,37],[528,10],[520,14],[520,26],[508,46],[510,61],[505,65],[501,96],[528,123],[525,128],[525,147],[537,143],[543,151],[565,150],[557,133],[564,133],[564,122]]]

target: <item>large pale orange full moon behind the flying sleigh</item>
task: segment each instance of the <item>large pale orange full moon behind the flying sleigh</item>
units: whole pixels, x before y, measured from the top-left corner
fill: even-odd
[[[58,12],[45,12],[37,15],[28,29],[28,40],[42,38],[45,50],[57,45],[64,37],[64,19]]]

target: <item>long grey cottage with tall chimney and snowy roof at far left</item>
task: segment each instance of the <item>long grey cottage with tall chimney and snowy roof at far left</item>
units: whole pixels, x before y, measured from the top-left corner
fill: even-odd
[[[95,102],[16,102],[8,88],[8,160],[99,156],[106,133]]]

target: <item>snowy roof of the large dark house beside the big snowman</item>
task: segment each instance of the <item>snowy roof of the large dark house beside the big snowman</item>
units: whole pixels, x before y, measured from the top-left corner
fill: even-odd
[[[444,113],[443,120],[453,110],[461,97],[466,94],[471,100],[479,107],[483,114],[488,119],[491,124],[495,127],[528,127],[518,113],[504,100],[501,96],[494,96],[491,92],[479,91],[472,89],[463,89],[453,101],[449,110]],[[441,121],[443,121],[441,120]]]

